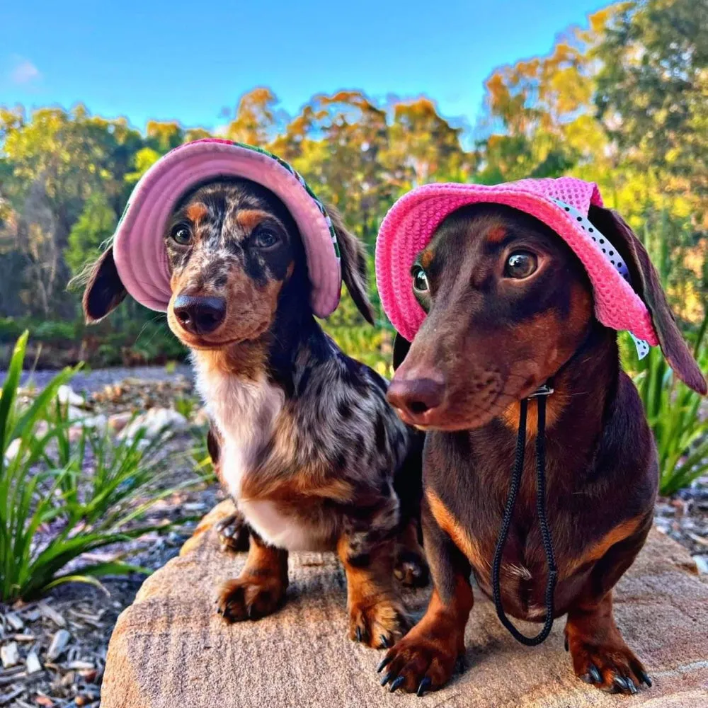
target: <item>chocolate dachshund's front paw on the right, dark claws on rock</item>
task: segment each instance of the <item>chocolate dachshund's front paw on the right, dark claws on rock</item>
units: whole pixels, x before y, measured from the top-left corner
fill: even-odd
[[[628,695],[634,695],[642,683],[651,686],[641,661],[624,644],[619,633],[599,644],[566,635],[566,646],[573,658],[576,676],[585,683],[610,693]]]

